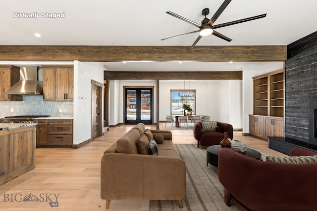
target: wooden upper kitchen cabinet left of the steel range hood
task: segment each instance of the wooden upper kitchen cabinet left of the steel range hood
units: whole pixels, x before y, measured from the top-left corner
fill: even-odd
[[[0,101],[22,101],[22,95],[5,94],[12,85],[20,81],[20,68],[12,65],[0,66]]]

